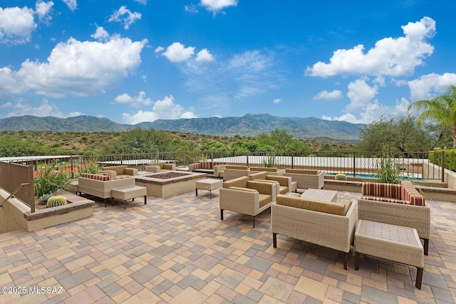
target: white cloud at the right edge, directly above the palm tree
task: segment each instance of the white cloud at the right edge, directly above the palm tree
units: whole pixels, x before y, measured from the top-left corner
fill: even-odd
[[[412,101],[434,98],[442,95],[450,85],[456,85],[456,74],[445,73],[438,75],[431,73],[408,82],[410,99]]]

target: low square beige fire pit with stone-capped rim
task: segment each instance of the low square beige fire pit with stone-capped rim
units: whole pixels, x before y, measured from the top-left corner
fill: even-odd
[[[167,171],[135,176],[135,184],[147,188],[148,196],[168,197],[195,191],[195,183],[207,174]]]

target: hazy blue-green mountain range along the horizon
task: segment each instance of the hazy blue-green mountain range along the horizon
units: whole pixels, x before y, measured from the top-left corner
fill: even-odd
[[[296,138],[316,140],[358,140],[363,124],[316,117],[279,117],[269,114],[247,114],[242,117],[207,117],[179,120],[155,120],[136,125],[121,125],[108,118],[81,115],[58,118],[32,115],[7,117],[0,120],[0,131],[51,131],[51,132],[124,132],[135,127],[203,135],[256,136],[261,132],[286,130]]]

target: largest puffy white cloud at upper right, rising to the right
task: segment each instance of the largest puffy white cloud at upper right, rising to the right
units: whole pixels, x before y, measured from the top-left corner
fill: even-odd
[[[426,39],[435,35],[435,21],[424,17],[402,28],[403,37],[383,38],[367,53],[362,44],[348,50],[339,49],[333,53],[330,63],[319,61],[307,68],[305,74],[323,78],[339,74],[411,75],[416,66],[423,65],[423,58],[434,51]]]

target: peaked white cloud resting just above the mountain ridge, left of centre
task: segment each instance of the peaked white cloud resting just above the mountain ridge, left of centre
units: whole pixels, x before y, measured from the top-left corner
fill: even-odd
[[[186,111],[182,105],[175,104],[172,95],[165,96],[163,100],[157,100],[152,108],[152,111],[138,111],[136,114],[130,115],[123,113],[123,122],[135,125],[139,122],[152,122],[158,119],[173,120],[179,118],[195,118],[192,111]]]

